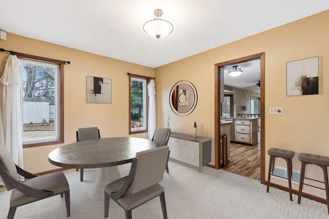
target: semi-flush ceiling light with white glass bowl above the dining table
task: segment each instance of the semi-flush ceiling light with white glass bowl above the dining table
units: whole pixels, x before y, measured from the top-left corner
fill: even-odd
[[[144,31],[154,38],[163,38],[173,32],[173,25],[161,19],[163,11],[161,9],[154,10],[154,19],[144,24]]]

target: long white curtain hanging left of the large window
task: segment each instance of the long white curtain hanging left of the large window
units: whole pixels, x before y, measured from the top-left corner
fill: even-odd
[[[22,62],[16,55],[9,55],[5,71],[0,78],[1,116],[3,134],[0,134],[15,164],[23,168],[23,127],[22,127]]]

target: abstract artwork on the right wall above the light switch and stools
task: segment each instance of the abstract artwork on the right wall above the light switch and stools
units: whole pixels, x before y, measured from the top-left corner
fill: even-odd
[[[287,62],[287,96],[319,94],[319,56]]]

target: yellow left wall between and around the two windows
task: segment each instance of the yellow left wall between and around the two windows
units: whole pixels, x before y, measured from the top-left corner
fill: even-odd
[[[71,62],[64,67],[64,144],[75,142],[76,130],[82,127],[97,126],[102,137],[129,136],[127,72],[154,77],[153,68],[10,33],[7,33],[7,41],[0,41],[0,48]],[[0,75],[8,56],[9,53],[0,52]],[[112,79],[112,104],[86,103],[87,75]],[[148,134],[132,136],[147,138]],[[24,168],[33,173],[59,168],[48,162],[48,153],[62,145],[25,148]]]

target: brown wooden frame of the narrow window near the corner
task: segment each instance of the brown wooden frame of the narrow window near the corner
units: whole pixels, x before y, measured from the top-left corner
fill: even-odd
[[[137,78],[137,79],[145,79],[146,81],[146,92],[145,92],[145,95],[146,95],[146,103],[145,103],[145,112],[146,112],[146,124],[145,124],[145,128],[146,129],[142,129],[142,130],[137,130],[137,131],[132,131],[132,128],[131,128],[131,81],[132,81],[132,78]],[[146,76],[141,76],[141,75],[132,75],[132,74],[129,74],[129,134],[137,134],[137,133],[144,133],[144,132],[148,132],[149,130],[149,89],[148,89],[148,86],[149,86],[149,83],[150,83],[150,78],[149,77],[146,77]],[[145,118],[143,118],[145,120]]]

